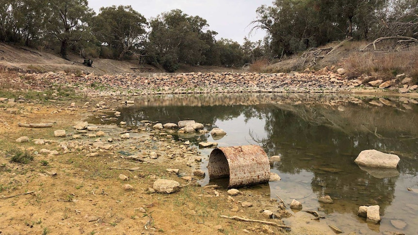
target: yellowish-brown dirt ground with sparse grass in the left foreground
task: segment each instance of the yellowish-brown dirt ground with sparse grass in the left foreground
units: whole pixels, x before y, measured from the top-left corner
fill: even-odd
[[[122,106],[119,100],[105,100],[106,107],[97,110],[96,104],[103,100],[87,101],[89,104],[72,98],[0,103],[5,110],[0,112],[1,234],[299,234],[300,229],[306,229],[286,232],[274,225],[221,218],[237,215],[282,224],[280,219],[264,218],[261,211],[269,209],[277,215],[290,216],[292,212],[278,212],[279,203],[271,200],[268,185],[240,188],[241,194],[230,197],[226,188],[201,187],[196,183],[199,177],[193,176],[189,184],[167,172],[167,168],[177,168],[181,176],[192,176],[192,170],[200,165],[196,157],[206,156],[200,156],[193,147],[186,148],[184,142],[159,137],[149,128],[98,125],[105,136],[87,136],[96,131],[77,133],[73,128],[77,122],[114,112]],[[72,102],[75,107],[71,107]],[[18,123],[53,123],[53,126],[28,128],[19,127]],[[54,130],[58,129],[66,130],[67,136],[54,137]],[[130,138],[120,138],[123,133],[129,133]],[[16,139],[22,136],[30,141],[17,143]],[[109,141],[109,138],[113,139],[113,148],[109,150],[91,145],[95,140]],[[45,143],[35,144],[34,139],[43,139]],[[62,141],[72,141],[75,146],[64,150]],[[33,161],[11,162],[10,152],[14,149],[28,151],[34,156]],[[57,150],[58,154],[47,155],[42,149]],[[139,153],[138,156],[145,156],[153,164],[123,159],[121,151]],[[150,159],[146,157],[150,151],[161,156]],[[181,156],[170,157],[169,153]],[[110,167],[142,171],[110,170]],[[129,180],[120,180],[119,174],[125,174]],[[173,194],[150,192],[148,188],[159,178],[174,179],[184,187]],[[125,190],[125,184],[133,189]],[[259,187],[265,190],[260,193]],[[242,207],[241,202],[253,206]],[[307,214],[305,220],[310,219]]]

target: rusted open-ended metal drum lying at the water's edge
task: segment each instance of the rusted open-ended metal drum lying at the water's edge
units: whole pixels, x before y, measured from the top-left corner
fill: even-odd
[[[269,158],[257,145],[216,148],[210,153],[208,172],[210,179],[229,177],[228,188],[266,183]]]

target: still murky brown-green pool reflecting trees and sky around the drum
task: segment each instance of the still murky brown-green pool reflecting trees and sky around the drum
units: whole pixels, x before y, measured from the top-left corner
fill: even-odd
[[[193,119],[208,124],[208,130],[220,127],[227,135],[219,140],[209,134],[178,138],[194,144],[216,141],[219,146],[259,144],[268,156],[281,156],[271,171],[282,180],[270,182],[271,197],[277,194],[287,203],[297,199],[304,209],[320,210],[327,217],[321,221],[325,227],[336,225],[357,234],[416,234],[418,193],[407,188],[418,191],[417,103],[400,97],[323,94],[144,96],[119,110],[122,114],[115,122],[140,125],[141,120],[164,124]],[[397,154],[398,169],[360,169],[354,159],[365,149]],[[201,151],[208,156],[211,149]],[[209,183],[208,177],[201,183]],[[330,195],[334,204],[319,203],[323,195]],[[365,204],[380,205],[380,225],[356,216]],[[295,224],[296,217],[285,222]],[[396,228],[391,220],[406,226]]]

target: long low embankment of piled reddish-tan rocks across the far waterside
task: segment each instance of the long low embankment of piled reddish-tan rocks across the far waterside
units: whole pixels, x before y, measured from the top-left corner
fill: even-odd
[[[384,81],[369,76],[348,78],[344,69],[323,68],[302,73],[183,73],[170,76],[142,77],[135,74],[103,75],[48,72],[20,74],[9,79],[31,89],[72,86],[91,95],[209,94],[209,93],[336,93],[372,89],[416,93],[418,86],[405,74]],[[2,76],[4,81],[4,77]]]

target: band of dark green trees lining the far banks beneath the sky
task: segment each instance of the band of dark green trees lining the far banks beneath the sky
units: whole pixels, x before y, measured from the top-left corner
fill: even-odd
[[[0,0],[0,41],[55,50],[64,59],[69,52],[135,59],[173,72],[180,64],[258,68],[347,37],[418,37],[416,0],[274,0],[254,10],[257,19],[248,23],[268,34],[240,45],[216,40],[206,19],[179,9],[145,19],[122,5],[96,14],[87,0]]]

